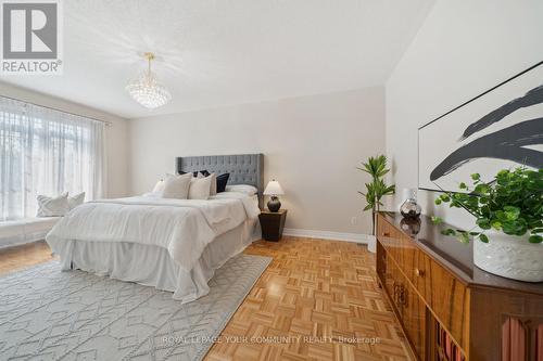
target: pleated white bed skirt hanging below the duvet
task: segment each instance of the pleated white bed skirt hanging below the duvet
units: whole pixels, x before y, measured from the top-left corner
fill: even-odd
[[[228,259],[260,238],[255,220],[247,220],[210,243],[194,268],[187,272],[169,256],[167,249],[128,242],[62,241],[52,244],[63,270],[79,269],[101,276],[136,282],[173,292],[181,304],[210,292],[207,282]],[[255,231],[256,230],[256,231]]]

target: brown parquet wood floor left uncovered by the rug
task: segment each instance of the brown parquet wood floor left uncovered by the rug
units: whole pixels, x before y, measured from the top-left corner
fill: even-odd
[[[274,261],[206,361],[409,360],[365,246],[283,237],[255,242],[244,253]],[[0,250],[0,273],[50,259],[43,242],[8,248]]]

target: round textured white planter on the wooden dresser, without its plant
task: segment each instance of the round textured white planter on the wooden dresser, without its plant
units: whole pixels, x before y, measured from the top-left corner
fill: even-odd
[[[503,278],[543,282],[543,243],[528,242],[529,235],[515,236],[487,232],[490,242],[473,240],[473,262],[480,269]]]

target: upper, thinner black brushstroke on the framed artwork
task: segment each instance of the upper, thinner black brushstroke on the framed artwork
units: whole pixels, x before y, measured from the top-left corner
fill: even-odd
[[[502,105],[497,109],[487,114],[476,123],[470,124],[466,130],[464,130],[460,141],[487,127],[490,127],[494,123],[502,120],[515,111],[540,103],[543,103],[543,85],[533,88],[523,96],[512,100],[507,104]]]

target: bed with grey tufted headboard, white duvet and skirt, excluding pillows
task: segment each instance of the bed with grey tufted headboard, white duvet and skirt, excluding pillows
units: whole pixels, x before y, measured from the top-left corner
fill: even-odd
[[[206,295],[216,269],[260,238],[263,155],[176,158],[177,172],[229,172],[224,192],[199,199],[135,196],[86,203],[70,211],[46,241],[63,270],[79,269],[173,292],[189,302]]]

